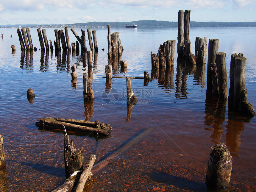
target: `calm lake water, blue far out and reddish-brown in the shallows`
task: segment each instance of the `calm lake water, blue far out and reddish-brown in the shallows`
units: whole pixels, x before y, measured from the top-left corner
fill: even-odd
[[[94,29],[91,29],[94,30]],[[39,50],[37,30],[30,29],[38,51],[20,51],[16,29],[0,29],[0,134],[4,139],[6,169],[0,171],[1,191],[50,191],[65,180],[64,132],[45,131],[35,126],[38,118],[60,117],[101,121],[112,126],[111,137],[93,137],[70,133],[85,160],[90,154],[100,160],[122,143],[154,126],[154,131],[137,145],[112,161],[86,186],[88,191],[207,191],[205,177],[211,147],[227,145],[233,156],[230,191],[255,191],[256,118],[233,120],[225,102],[206,99],[207,65],[193,68],[177,62],[173,70],[151,74],[151,51],[176,39],[176,28],[126,29],[120,32],[127,60],[127,70],[113,65],[114,76],[153,76],[148,86],[143,79],[132,79],[138,103],[127,109],[126,79],[113,79],[106,87],[104,65],[108,64],[107,28],[96,28],[99,52],[93,55],[93,104],[83,102],[83,72],[87,72],[84,54],[59,55]],[[76,38],[69,31],[71,42]],[[80,29],[76,29],[81,35]],[[86,29],[85,29],[86,31]],[[47,28],[48,40],[55,39],[54,29]],[[10,38],[10,35],[13,38]],[[256,107],[256,28],[191,28],[192,53],[197,36],[219,39],[219,52],[230,56],[243,53],[247,58],[247,100]],[[87,36],[87,35],[86,35]],[[12,53],[10,45],[15,45]],[[177,46],[177,45],[176,45]],[[87,41],[87,47],[89,43]],[[101,49],[105,50],[102,51]],[[77,83],[71,84],[69,66],[76,64]],[[228,78],[228,89],[229,89]],[[28,102],[26,92],[32,88],[36,97]],[[102,95],[118,93],[119,99],[108,104]],[[128,111],[127,111],[128,110]]]

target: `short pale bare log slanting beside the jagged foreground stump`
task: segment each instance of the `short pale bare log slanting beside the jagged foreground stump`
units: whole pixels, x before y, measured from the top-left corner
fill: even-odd
[[[86,183],[88,177],[92,176],[91,169],[93,167],[95,160],[96,160],[96,155],[90,155],[90,157],[85,165],[85,168],[84,168],[82,174],[80,175],[80,179],[75,188],[75,192],[82,192],[84,190],[85,183]]]

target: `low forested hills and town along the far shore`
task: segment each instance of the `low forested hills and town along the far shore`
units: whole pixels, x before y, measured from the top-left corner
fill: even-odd
[[[75,23],[75,24],[26,24],[26,25],[0,25],[1,28],[18,28],[21,27],[31,27],[31,28],[57,28],[57,27],[74,27],[74,28],[104,28],[107,25],[111,27],[125,27],[126,25],[136,24],[138,28],[140,27],[178,27],[177,21],[156,21],[156,20],[140,20],[131,22],[87,22],[87,23]],[[256,27],[256,21],[254,22],[196,22],[190,21],[190,27]]]

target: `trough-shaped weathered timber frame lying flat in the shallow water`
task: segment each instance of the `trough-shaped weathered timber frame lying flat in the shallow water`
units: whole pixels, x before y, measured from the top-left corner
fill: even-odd
[[[43,127],[44,129],[57,129],[64,131],[64,126],[66,131],[72,132],[90,132],[94,135],[110,135],[111,126],[110,124],[104,124],[99,121],[90,122],[85,120],[77,119],[63,119],[63,118],[38,118],[36,126]],[[64,125],[64,126],[63,126]]]

